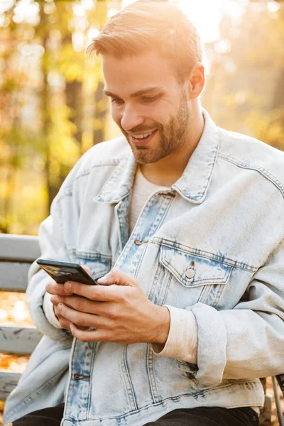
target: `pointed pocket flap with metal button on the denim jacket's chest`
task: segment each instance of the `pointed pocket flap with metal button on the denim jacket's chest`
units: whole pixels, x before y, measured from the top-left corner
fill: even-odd
[[[231,265],[170,247],[161,247],[160,263],[185,286],[224,284]]]

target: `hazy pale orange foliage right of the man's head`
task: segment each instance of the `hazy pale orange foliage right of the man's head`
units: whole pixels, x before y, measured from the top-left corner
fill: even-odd
[[[204,105],[220,126],[284,150],[284,4],[224,7]]]

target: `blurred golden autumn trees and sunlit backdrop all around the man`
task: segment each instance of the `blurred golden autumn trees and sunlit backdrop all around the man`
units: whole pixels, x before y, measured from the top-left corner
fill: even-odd
[[[119,135],[85,50],[132,1],[0,0],[0,233],[38,233],[80,155]],[[284,148],[284,3],[180,0],[205,43],[202,104]]]

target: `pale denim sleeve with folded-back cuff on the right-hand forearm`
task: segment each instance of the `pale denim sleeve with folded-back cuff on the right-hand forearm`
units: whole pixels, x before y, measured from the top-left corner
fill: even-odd
[[[253,275],[247,293],[232,310],[202,303],[187,308],[198,327],[197,365],[189,365],[208,386],[223,378],[284,373],[284,240]]]

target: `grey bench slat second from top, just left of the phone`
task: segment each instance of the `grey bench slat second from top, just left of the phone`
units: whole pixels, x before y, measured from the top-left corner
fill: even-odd
[[[0,291],[25,292],[28,285],[28,268],[31,263],[0,261]]]

